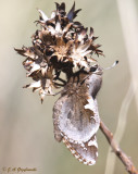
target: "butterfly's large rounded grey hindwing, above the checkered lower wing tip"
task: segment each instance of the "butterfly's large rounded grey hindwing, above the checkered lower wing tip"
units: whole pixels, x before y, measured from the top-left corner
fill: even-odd
[[[55,102],[53,124],[57,140],[63,134],[70,141],[80,144],[97,133],[100,123],[97,100],[89,97],[87,104],[84,100],[76,95],[65,95]]]

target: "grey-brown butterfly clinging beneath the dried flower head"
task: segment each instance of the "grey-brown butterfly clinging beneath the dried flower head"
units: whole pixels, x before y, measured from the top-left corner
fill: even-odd
[[[93,165],[98,157],[96,133],[100,117],[96,96],[102,84],[102,69],[91,66],[71,77],[53,107],[54,137],[63,141],[81,163]]]

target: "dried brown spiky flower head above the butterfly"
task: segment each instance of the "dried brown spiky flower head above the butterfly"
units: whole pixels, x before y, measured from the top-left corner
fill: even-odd
[[[62,86],[61,72],[66,74],[67,79],[74,73],[85,69],[89,70],[90,63],[96,61],[92,53],[102,54],[100,45],[95,45],[97,37],[93,29],[85,28],[79,22],[74,21],[77,13],[75,3],[68,13],[65,12],[65,3],[55,3],[57,10],[49,18],[41,10],[38,10],[40,17],[37,24],[40,29],[33,35],[33,46],[15,49],[17,53],[26,57],[23,62],[27,71],[27,77],[35,83],[26,85],[33,91],[39,91],[41,101],[46,95],[53,95],[53,89]]]

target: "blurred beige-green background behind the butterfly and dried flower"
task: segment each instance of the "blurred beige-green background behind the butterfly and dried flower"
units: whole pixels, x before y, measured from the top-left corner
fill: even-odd
[[[123,1],[125,7],[129,0]],[[65,2],[68,11],[74,1],[65,0]],[[127,98],[128,103],[126,102],[126,108],[123,110],[123,114],[127,117],[120,145],[138,169],[138,57],[130,59],[134,47],[138,47],[135,45],[138,37],[131,38],[129,30],[124,35],[118,1],[76,0],[75,2],[76,9],[83,9],[78,13],[77,21],[85,26],[92,26],[95,35],[99,36],[97,42],[102,45],[101,49],[105,54],[105,58],[98,59],[100,65],[106,67],[115,60],[120,60],[117,66],[104,71],[102,89],[98,96],[100,116],[113,133],[116,130],[120,111],[129,85],[136,85],[134,97],[131,100]],[[131,2],[138,12],[138,1]],[[108,167],[109,144],[103,134],[100,130],[97,134],[99,158],[96,165],[87,166],[79,163],[62,142],[54,140],[52,107],[58,97],[46,97],[41,104],[37,92],[33,94],[32,90],[22,88],[30,79],[26,78],[22,65],[24,58],[16,54],[14,48],[32,45],[30,36],[37,29],[34,21],[39,16],[37,8],[50,16],[55,9],[54,0],[0,0],[0,170],[3,166],[37,167],[37,172],[25,173],[104,174]],[[127,14],[130,22],[136,20],[130,11],[126,11]],[[129,28],[129,23],[127,25]],[[130,46],[126,45],[126,39],[128,41],[129,38],[134,39]],[[135,53],[138,55],[137,51]],[[116,158],[114,174],[121,173],[127,172]]]

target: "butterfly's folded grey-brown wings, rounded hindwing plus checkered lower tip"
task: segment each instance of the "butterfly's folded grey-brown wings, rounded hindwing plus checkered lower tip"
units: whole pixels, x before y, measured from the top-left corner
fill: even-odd
[[[55,102],[53,108],[54,137],[58,141],[63,140],[78,161],[92,165],[98,157],[95,135],[100,120],[97,100],[89,97],[85,105],[83,101],[76,95],[65,95]]]

